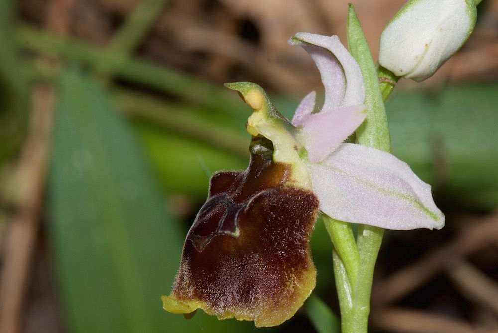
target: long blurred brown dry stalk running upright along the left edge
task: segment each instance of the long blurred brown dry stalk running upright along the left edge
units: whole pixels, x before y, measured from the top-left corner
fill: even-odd
[[[50,31],[59,35],[67,33],[71,4],[72,0],[52,0],[49,3],[46,25]],[[17,209],[10,218],[5,239],[0,280],[2,333],[21,331],[20,321],[42,210],[54,99],[53,89],[47,85],[33,89],[30,129],[16,172],[17,193],[14,200]]]

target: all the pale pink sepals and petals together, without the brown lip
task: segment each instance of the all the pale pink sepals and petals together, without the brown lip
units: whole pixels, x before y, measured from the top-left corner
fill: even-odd
[[[314,93],[297,108],[293,124],[301,126],[309,159],[305,162],[320,200],[320,210],[336,220],[386,229],[444,226],[430,185],[392,154],[342,143],[361,124],[365,88],[355,59],[337,36],[298,33],[290,43],[302,45],[315,60],[325,86],[325,103],[313,114]]]

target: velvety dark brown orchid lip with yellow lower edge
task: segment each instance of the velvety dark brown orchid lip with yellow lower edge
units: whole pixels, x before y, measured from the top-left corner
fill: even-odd
[[[246,171],[212,177],[172,296],[256,326],[278,325],[299,309],[315,286],[308,243],[318,199],[293,187],[291,173],[270,154],[252,154]]]

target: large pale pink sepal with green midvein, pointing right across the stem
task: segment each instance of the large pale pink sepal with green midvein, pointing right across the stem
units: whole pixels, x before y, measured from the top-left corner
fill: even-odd
[[[394,230],[444,226],[431,186],[392,154],[343,143],[308,170],[320,210],[334,219]]]

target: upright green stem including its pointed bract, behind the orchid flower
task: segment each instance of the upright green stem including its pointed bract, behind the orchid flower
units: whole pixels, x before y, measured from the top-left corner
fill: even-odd
[[[369,112],[356,131],[360,145],[390,151],[390,137],[384,100],[392,92],[398,78],[386,69],[377,68],[356,16],[349,5],[347,20],[348,48],[356,59],[365,84],[365,106]],[[373,271],[384,230],[360,225],[355,243],[351,226],[325,218],[327,231],[334,243],[334,276],[341,308],[343,333],[367,333]],[[349,227],[348,227],[349,226]]]

